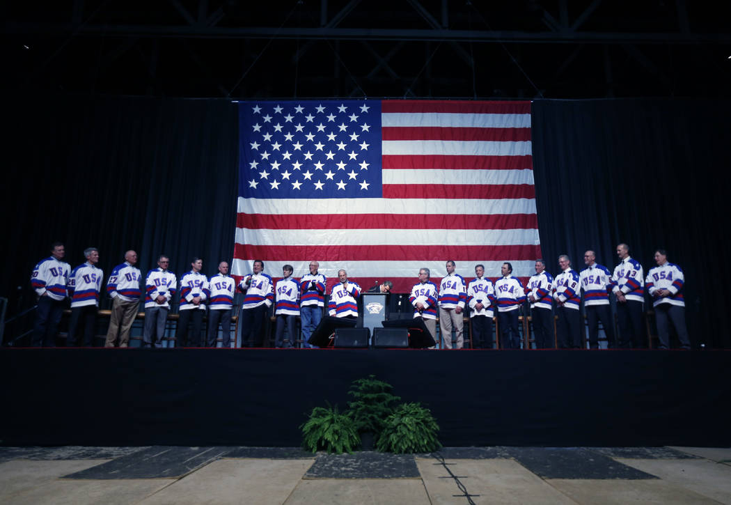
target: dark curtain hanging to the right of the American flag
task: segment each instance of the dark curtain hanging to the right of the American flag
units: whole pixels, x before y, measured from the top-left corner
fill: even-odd
[[[731,347],[723,211],[730,117],[729,100],[533,102],[538,226],[549,271],[558,273],[564,253],[583,269],[589,249],[611,270],[616,244],[626,242],[646,275],[656,266],[655,248],[664,248],[685,275],[693,342]]]

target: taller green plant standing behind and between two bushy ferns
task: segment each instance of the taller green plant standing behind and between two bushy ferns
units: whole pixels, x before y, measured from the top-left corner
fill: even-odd
[[[360,378],[350,386],[354,401],[348,402],[347,415],[355,422],[363,449],[373,449],[374,439],[383,430],[385,420],[393,414],[395,404],[401,397],[394,396],[393,386],[379,381],[375,375]]]

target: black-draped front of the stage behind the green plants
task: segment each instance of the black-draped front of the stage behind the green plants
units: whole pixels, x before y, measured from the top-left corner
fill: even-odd
[[[297,446],[351,381],[445,446],[731,446],[729,351],[1,349],[3,445]]]

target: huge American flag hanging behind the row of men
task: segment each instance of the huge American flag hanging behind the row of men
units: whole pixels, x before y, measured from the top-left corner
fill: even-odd
[[[255,259],[281,277],[338,269],[361,288],[407,293],[474,265],[529,277],[540,257],[530,102],[240,102],[232,274]]]

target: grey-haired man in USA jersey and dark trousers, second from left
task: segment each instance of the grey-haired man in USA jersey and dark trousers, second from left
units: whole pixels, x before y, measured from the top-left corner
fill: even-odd
[[[79,320],[84,329],[83,345],[91,347],[94,344],[94,326],[96,313],[99,310],[99,291],[102,289],[104,272],[96,266],[99,263],[99,250],[88,247],[84,250],[85,263],[77,266],[69,275],[69,295],[71,296],[71,320],[69,321],[69,337],[66,345],[77,345],[76,331]]]

